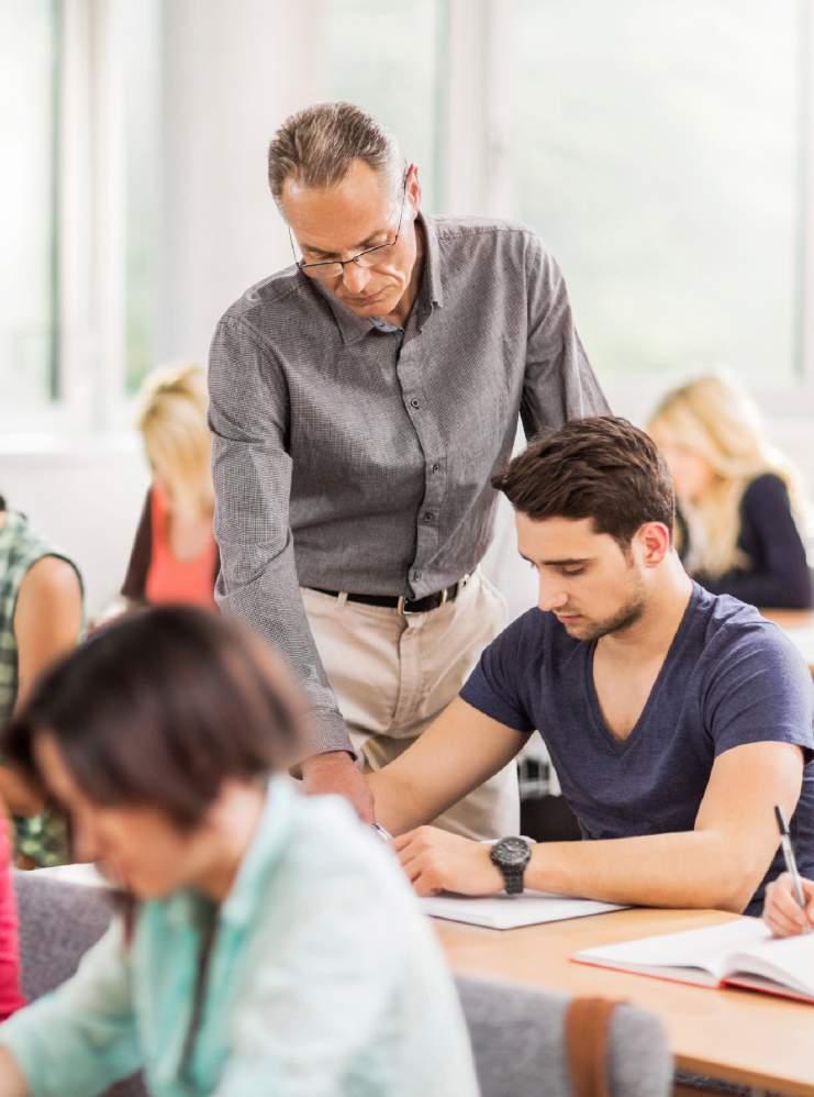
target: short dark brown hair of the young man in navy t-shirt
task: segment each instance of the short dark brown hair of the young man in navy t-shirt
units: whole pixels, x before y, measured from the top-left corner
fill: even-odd
[[[672,529],[674,497],[653,440],[626,419],[598,415],[537,437],[492,477],[515,510],[535,521],[592,518],[626,548],[645,522]]]

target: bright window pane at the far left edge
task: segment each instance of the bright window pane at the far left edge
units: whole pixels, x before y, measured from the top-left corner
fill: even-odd
[[[60,4],[0,7],[0,415],[59,399],[58,126]]]

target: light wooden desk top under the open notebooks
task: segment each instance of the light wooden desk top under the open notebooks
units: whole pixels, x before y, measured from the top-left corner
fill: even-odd
[[[569,961],[575,952],[654,933],[700,929],[709,910],[620,910],[517,930],[435,921],[454,969],[539,989],[604,995],[656,1013],[677,1065],[783,1094],[814,1094],[814,1006],[748,990],[711,990]]]

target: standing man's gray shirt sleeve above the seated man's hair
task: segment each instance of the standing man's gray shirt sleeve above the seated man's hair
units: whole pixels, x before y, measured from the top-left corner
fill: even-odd
[[[557,262],[528,234],[528,339],[521,417],[526,437],[571,419],[607,415],[610,407],[577,333]]]

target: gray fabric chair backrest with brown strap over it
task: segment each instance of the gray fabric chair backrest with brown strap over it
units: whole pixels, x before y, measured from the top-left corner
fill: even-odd
[[[567,995],[458,976],[482,1097],[572,1097],[565,1042]],[[612,1097],[667,1097],[672,1056],[661,1023],[618,1006],[609,1031]]]

